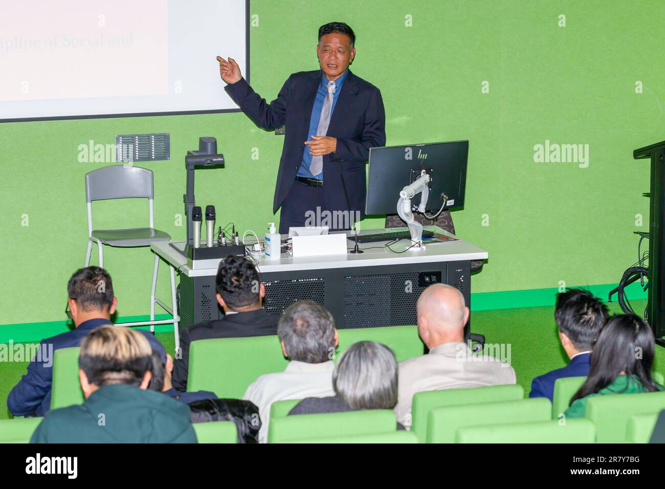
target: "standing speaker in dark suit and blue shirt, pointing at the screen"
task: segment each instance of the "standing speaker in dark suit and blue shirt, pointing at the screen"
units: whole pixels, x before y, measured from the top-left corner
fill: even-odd
[[[364,216],[365,162],[369,148],[386,144],[386,116],[378,88],[348,69],[355,39],[345,23],[321,26],[321,69],[291,75],[270,104],[235,60],[217,57],[226,92],[257,126],[286,124],[273,200],[273,213],[281,206],[281,234],[291,226],[349,229]]]

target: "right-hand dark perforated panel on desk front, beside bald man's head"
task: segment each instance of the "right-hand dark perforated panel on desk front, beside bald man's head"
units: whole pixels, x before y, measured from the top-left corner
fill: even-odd
[[[344,278],[344,327],[416,324],[418,272]]]

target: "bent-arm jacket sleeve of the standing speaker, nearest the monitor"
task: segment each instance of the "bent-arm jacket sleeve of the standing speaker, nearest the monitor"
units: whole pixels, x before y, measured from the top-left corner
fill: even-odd
[[[340,158],[341,161],[362,161],[370,157],[370,148],[386,146],[386,112],[383,107],[383,99],[378,88],[370,97],[370,102],[365,111],[362,138],[358,140],[337,138],[337,147],[332,158]]]

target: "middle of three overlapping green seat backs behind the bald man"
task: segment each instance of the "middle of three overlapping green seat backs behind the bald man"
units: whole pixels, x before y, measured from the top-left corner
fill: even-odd
[[[456,433],[467,426],[551,420],[552,403],[544,397],[434,408],[427,423],[428,443],[454,443]]]

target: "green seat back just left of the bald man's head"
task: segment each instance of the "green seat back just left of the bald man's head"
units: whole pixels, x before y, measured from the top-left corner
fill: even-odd
[[[378,341],[392,350],[395,359],[401,362],[424,353],[424,345],[418,337],[416,326],[383,326],[376,328],[338,329],[339,347],[337,355],[358,341]]]

